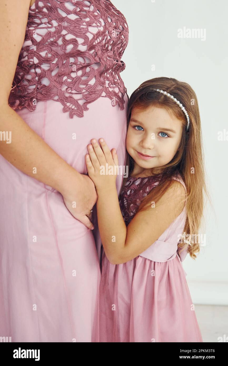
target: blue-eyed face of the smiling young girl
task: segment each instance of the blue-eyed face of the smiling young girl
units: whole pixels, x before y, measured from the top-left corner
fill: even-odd
[[[133,108],[128,124],[126,149],[134,159],[134,173],[168,164],[182,137],[182,122],[165,108],[151,106],[146,111]],[[141,154],[150,157],[143,158]],[[148,172],[147,172],[148,173]],[[159,173],[159,169],[156,169]]]

